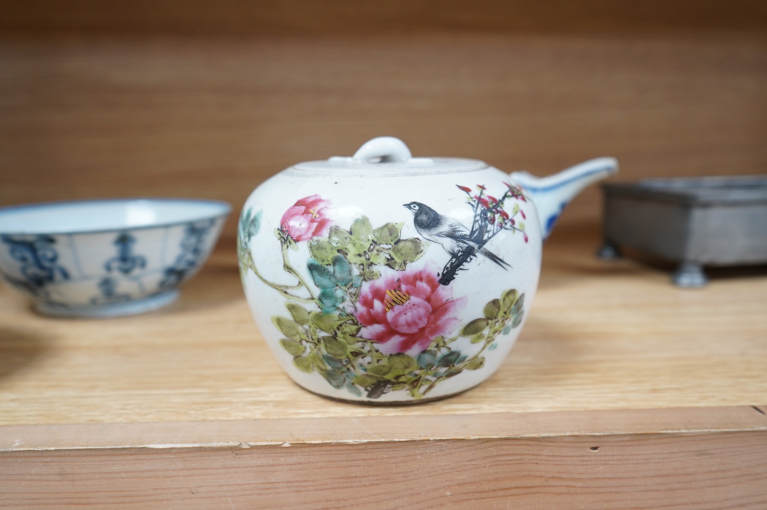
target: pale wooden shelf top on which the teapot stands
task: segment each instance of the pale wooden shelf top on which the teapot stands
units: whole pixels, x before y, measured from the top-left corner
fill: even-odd
[[[0,294],[0,425],[472,415],[751,406],[767,394],[767,273],[707,288],[594,258],[594,226],[555,232],[525,330],[495,375],[420,406],[361,406],[288,380],[258,334],[232,252],[180,301],[110,321],[42,318]]]

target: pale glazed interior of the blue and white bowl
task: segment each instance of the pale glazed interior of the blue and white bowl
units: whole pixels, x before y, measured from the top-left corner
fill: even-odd
[[[54,202],[0,209],[2,234],[56,234],[140,229],[228,214],[229,204],[195,199]]]

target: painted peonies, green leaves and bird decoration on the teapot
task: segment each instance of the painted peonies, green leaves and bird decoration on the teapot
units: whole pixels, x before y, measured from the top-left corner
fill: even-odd
[[[377,399],[402,391],[420,400],[443,380],[484,367],[484,354],[497,347],[499,335],[521,324],[525,295],[506,290],[490,299],[479,317],[462,321],[466,297],[454,295],[450,283],[478,256],[509,270],[485,245],[502,230],[520,232],[527,241],[519,221],[525,217],[521,206],[505,209],[524,196],[512,185],[501,199],[487,195],[484,186],[476,193],[458,188],[469,196],[474,223],[466,227],[410,202],[404,206],[413,212],[419,236],[409,238],[402,237],[404,222],[372,225],[359,215],[351,225],[337,225],[330,200],[319,195],[299,199],[273,230],[282,267],[292,280],[288,284],[258,271],[250,243],[262,231],[263,215],[243,211],[238,235],[242,278],[252,272],[275,296],[285,298],[285,313],[272,317],[272,323],[298,370],[316,372],[331,387],[358,397]],[[444,267],[423,257],[435,242],[450,255]],[[300,243],[306,243],[310,256],[295,262],[291,252]]]

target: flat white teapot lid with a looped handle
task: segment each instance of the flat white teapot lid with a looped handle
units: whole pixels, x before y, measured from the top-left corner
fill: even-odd
[[[332,156],[328,160],[304,161],[291,166],[288,171],[361,170],[365,173],[380,171],[383,174],[401,176],[413,173],[421,175],[423,173],[472,172],[487,167],[488,164],[484,161],[466,158],[414,158],[410,154],[410,149],[399,138],[377,137],[365,142],[354,156]]]

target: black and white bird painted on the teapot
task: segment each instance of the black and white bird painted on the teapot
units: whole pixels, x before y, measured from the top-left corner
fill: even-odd
[[[413,213],[413,225],[423,239],[442,245],[451,257],[465,254],[466,248],[469,248],[472,253],[484,255],[504,269],[512,267],[495,253],[472,241],[469,229],[457,219],[443,216],[421,202],[408,202],[403,206]]]

